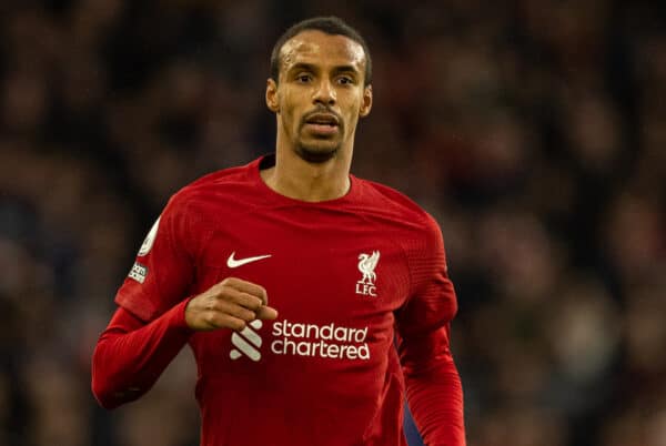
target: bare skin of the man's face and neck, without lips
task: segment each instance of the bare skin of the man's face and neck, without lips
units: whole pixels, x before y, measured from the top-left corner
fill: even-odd
[[[278,121],[275,166],[261,172],[275,192],[317,202],[344,195],[350,187],[359,118],[372,108],[372,87],[364,85],[363,47],[343,36],[303,31],[282,47],[279,83],[269,79],[266,105]],[[304,120],[312,112],[337,116],[339,131],[314,133]],[[304,151],[319,155],[312,162]]]

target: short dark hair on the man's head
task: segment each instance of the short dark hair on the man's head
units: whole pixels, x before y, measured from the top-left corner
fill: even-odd
[[[312,19],[302,20],[293,24],[291,28],[284,31],[282,36],[280,36],[280,39],[278,39],[275,45],[273,47],[273,51],[271,52],[271,79],[273,79],[275,83],[278,83],[278,78],[280,77],[280,64],[282,63],[280,52],[282,47],[294,36],[307,30],[322,31],[330,36],[344,36],[363,47],[363,52],[365,53],[364,84],[371,84],[372,59],[370,58],[370,50],[367,48],[367,43],[365,43],[365,39],[363,39],[359,31],[346,24],[341,18],[333,16],[313,17]]]

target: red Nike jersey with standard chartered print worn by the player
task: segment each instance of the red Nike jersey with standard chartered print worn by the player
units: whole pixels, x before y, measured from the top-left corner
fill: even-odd
[[[402,194],[354,176],[336,200],[285,197],[260,176],[272,162],[220,171],[176,193],[115,297],[149,322],[225,277],[266,288],[276,321],[189,336],[201,444],[406,445],[404,377],[407,387],[448,383],[438,388],[453,402],[446,444],[463,444],[448,349],[456,297],[437,224]],[[442,369],[453,381],[430,374]],[[435,391],[422,392],[427,402],[413,412],[426,442],[444,444],[427,426],[438,416]]]

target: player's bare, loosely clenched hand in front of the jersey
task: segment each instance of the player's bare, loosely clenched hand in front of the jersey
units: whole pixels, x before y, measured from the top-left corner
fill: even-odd
[[[196,331],[231,328],[241,332],[251,321],[278,317],[275,308],[268,303],[263,286],[228,277],[188,302],[185,322]]]

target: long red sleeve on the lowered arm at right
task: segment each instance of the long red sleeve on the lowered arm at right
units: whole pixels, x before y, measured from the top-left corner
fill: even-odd
[[[450,346],[457,300],[442,233],[430,216],[423,235],[406,246],[411,294],[396,314],[407,403],[426,445],[464,446],[462,385]]]

